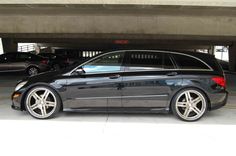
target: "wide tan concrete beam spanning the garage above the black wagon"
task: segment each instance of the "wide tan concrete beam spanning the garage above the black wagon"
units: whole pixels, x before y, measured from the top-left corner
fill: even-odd
[[[142,34],[236,37],[236,16],[175,14],[1,15],[4,34]],[[53,35],[52,35],[53,38]]]

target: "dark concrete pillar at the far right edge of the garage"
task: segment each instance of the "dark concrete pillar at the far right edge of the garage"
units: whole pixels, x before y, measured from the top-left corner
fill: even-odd
[[[236,42],[229,46],[229,70],[236,71]]]

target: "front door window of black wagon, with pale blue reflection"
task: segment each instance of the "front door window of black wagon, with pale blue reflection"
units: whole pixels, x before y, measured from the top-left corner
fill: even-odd
[[[82,68],[85,73],[118,72],[121,71],[123,58],[124,52],[111,53],[87,63]]]

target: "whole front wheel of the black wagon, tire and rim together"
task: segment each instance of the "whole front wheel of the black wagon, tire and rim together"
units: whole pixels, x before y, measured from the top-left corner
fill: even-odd
[[[37,86],[30,89],[25,97],[26,111],[37,119],[56,116],[61,108],[59,95],[50,87]]]

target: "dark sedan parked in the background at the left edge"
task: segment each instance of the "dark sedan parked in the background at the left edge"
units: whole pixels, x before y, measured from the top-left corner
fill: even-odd
[[[48,59],[41,56],[23,52],[0,55],[0,72],[25,71],[29,76],[33,76],[48,70]]]

